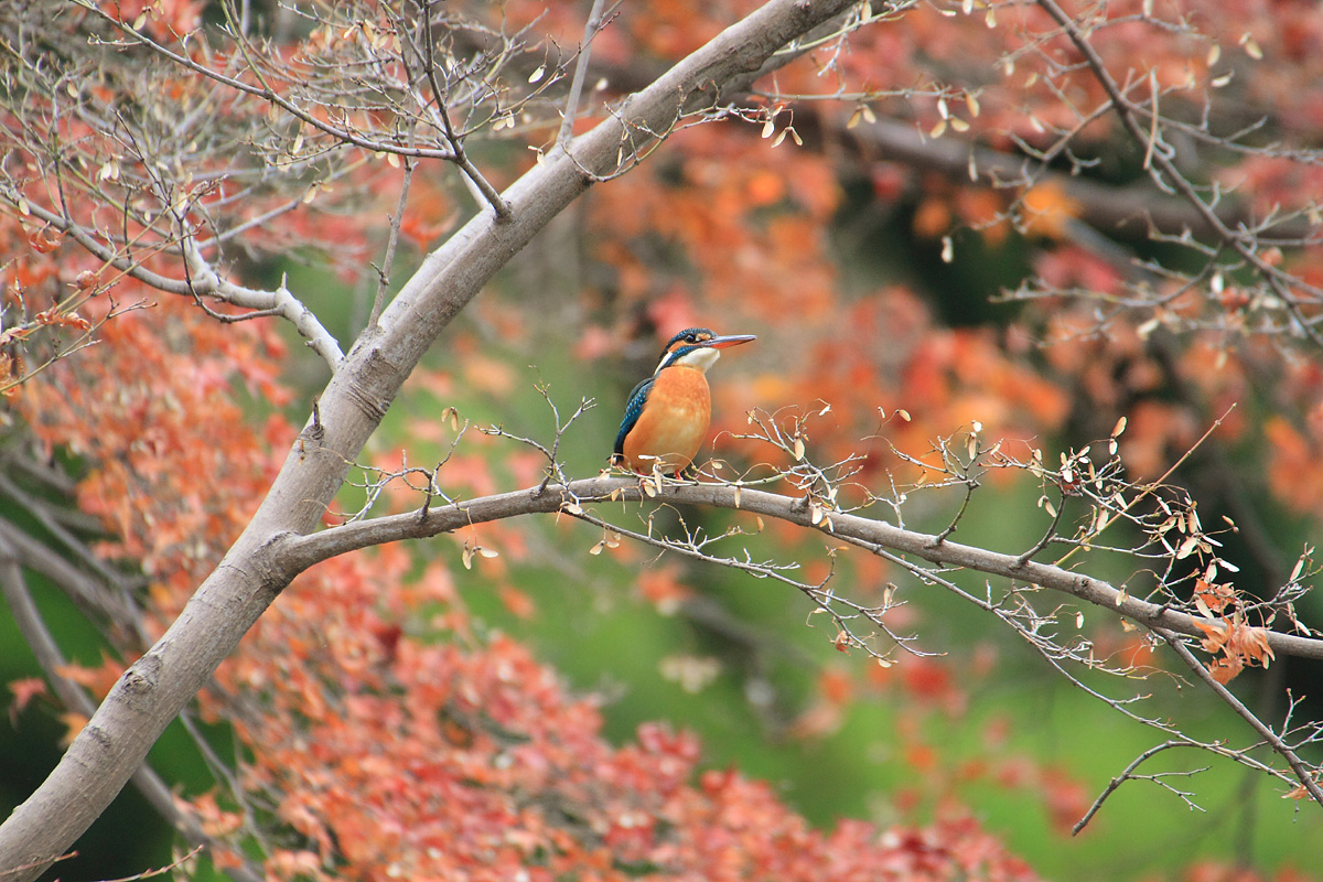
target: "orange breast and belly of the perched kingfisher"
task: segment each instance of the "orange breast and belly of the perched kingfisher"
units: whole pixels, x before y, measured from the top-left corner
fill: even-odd
[[[643,475],[655,465],[664,472],[685,469],[708,436],[710,421],[712,394],[703,372],[688,365],[664,368],[624,438],[624,460]]]

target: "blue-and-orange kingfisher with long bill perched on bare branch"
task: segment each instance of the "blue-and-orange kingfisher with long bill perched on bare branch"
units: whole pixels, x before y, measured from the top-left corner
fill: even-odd
[[[658,369],[630,393],[611,461],[640,475],[684,473],[712,419],[708,368],[722,349],[754,339],[750,333],[718,337],[708,328],[685,328],[671,337]]]

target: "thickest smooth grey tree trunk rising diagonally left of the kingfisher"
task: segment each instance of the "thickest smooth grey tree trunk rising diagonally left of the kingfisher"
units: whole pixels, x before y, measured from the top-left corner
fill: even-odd
[[[758,70],[778,49],[851,5],[771,0],[576,138],[569,155],[534,165],[503,194],[513,209],[508,220],[483,213],[427,257],[382,312],[380,327],[361,335],[340,362],[320,395],[321,431],[312,432],[310,424],[291,446],[266,499],[216,571],[156,645],[124,672],[50,776],[0,825],[0,875],[7,874],[7,882],[40,875],[105,811],[169,721],[290,583],[298,566],[283,550],[316,526],[401,383],[496,270],[594,176],[619,171],[623,145],[639,135],[664,138],[687,108],[712,106],[728,82]]]

